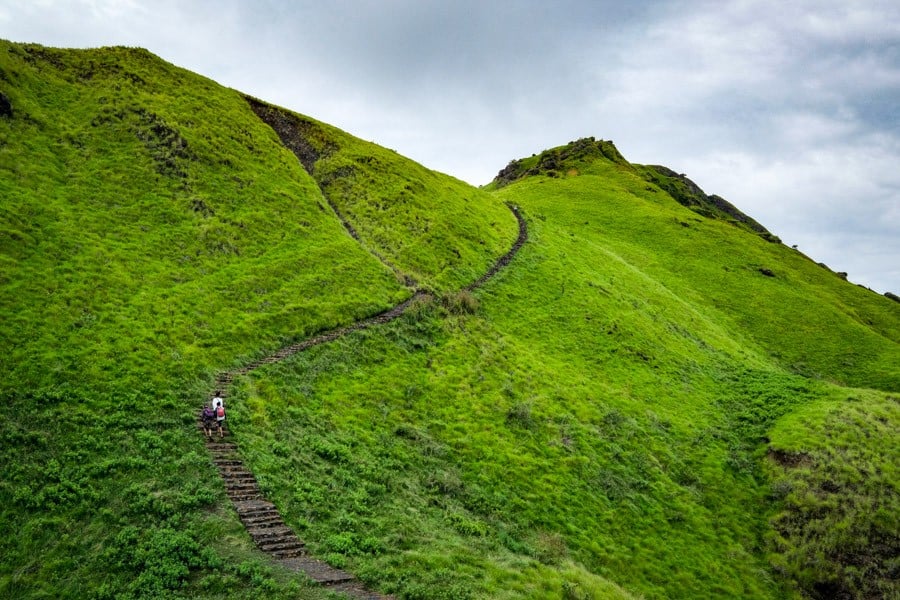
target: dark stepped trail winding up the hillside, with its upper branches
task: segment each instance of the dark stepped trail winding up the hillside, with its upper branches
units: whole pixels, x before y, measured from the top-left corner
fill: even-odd
[[[254,110],[259,114],[261,112],[260,106],[266,105],[262,105],[258,101],[251,101],[251,106],[253,106]],[[277,111],[277,109],[275,110]],[[280,113],[280,111],[277,112]],[[260,116],[262,118],[262,115]],[[268,120],[274,118],[272,114],[267,116],[268,119],[263,118],[264,121],[268,122]],[[278,117],[278,115],[276,114],[275,117]],[[286,118],[286,115],[280,113],[280,118],[284,119]],[[270,123],[270,125],[272,124]],[[283,128],[284,122],[279,123],[278,125]],[[275,128],[275,125],[272,126]],[[279,132],[279,129],[276,129],[276,132]],[[279,132],[279,136],[282,137],[282,141],[285,141],[281,132]],[[294,142],[294,147],[287,141],[285,141],[285,145],[294,151],[303,166],[311,171],[312,164],[314,164],[317,157],[311,156],[309,154],[309,148],[302,147],[302,143],[298,145],[296,139]],[[332,209],[335,211],[341,222],[344,223],[344,227],[347,229],[348,233],[359,240],[352,225],[346,221],[330,201],[329,204],[331,204]],[[519,224],[519,234],[515,243],[506,254],[501,256],[494,265],[484,273],[484,275],[464,287],[463,290],[474,291],[484,285],[512,261],[519,249],[528,240],[528,228],[518,207],[509,205],[509,209],[512,211],[513,215],[515,215]],[[373,252],[373,254],[384,261],[377,253]],[[387,261],[384,262],[396,271],[396,268],[394,268],[393,265],[390,265]],[[227,398],[229,388],[236,377],[247,375],[260,367],[279,362],[298,352],[302,352],[313,346],[331,342],[354,331],[389,323],[402,315],[416,301],[430,297],[430,294],[422,290],[416,290],[408,299],[383,313],[362,321],[357,321],[346,327],[326,331],[303,340],[302,342],[285,346],[264,358],[247,363],[246,365],[231,371],[220,373],[215,380],[215,390],[220,392],[222,398]],[[210,397],[212,397],[212,395]],[[203,428],[199,422],[198,428],[202,435]],[[367,589],[350,573],[308,556],[303,541],[297,537],[297,534],[288,527],[287,524],[285,524],[278,508],[263,496],[262,491],[259,489],[259,484],[256,481],[256,477],[250,469],[244,465],[238,451],[238,446],[235,442],[231,441],[230,435],[228,441],[216,438],[215,436],[206,439],[206,448],[212,455],[213,463],[218,469],[222,480],[225,482],[225,490],[237,511],[241,523],[243,523],[247,533],[250,534],[253,542],[260,550],[268,554],[275,562],[293,571],[303,572],[313,581],[326,586],[328,589],[335,592],[342,592],[353,598],[360,599],[388,600],[393,598],[392,596],[373,592]]]

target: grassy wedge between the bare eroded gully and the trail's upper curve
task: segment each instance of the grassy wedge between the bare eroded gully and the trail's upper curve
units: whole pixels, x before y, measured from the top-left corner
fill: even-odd
[[[487,270],[515,237],[489,195],[314,119],[249,98],[345,227],[413,286],[446,292]]]

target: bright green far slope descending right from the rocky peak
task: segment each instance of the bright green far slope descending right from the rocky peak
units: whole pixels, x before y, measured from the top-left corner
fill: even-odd
[[[569,176],[533,177],[498,195],[523,205],[528,199],[531,211],[554,214],[576,239],[599,240],[679,298],[713,311],[717,321],[730,323],[736,335],[761,345],[789,370],[900,391],[895,302],[782,244],[679,210],[621,160],[599,151],[586,156],[586,162],[564,163],[572,165]],[[633,201],[611,202],[617,190]]]

